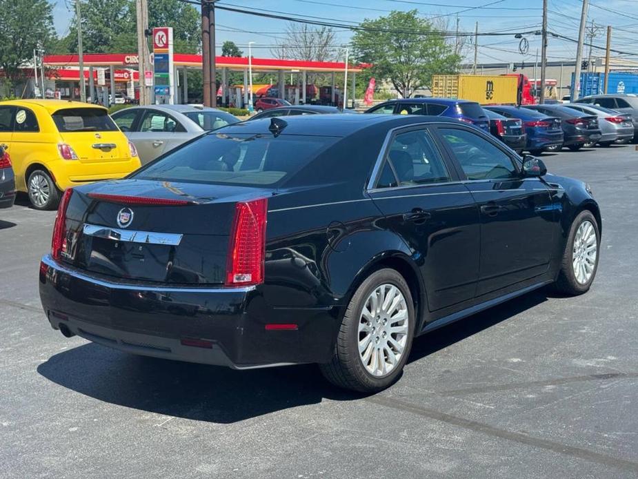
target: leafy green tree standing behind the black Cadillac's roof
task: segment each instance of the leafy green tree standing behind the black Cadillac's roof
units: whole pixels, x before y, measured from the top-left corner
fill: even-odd
[[[432,75],[455,73],[461,62],[453,45],[417,10],[366,19],[352,37],[355,56],[371,63],[370,75],[390,81],[404,98],[430,84]]]

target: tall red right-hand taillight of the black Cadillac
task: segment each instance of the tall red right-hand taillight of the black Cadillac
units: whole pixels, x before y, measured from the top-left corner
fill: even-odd
[[[230,231],[226,286],[263,282],[268,199],[239,202]]]

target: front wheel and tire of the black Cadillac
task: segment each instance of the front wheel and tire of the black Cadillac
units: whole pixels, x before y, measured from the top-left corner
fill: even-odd
[[[595,250],[590,249],[590,246],[594,244]],[[588,251],[593,251],[595,257],[592,258]],[[579,255],[582,260],[579,260],[579,257],[575,257],[575,255]],[[586,259],[587,257],[589,260]],[[572,296],[589,291],[596,277],[599,257],[600,231],[598,222],[590,211],[581,211],[570,227],[561,262],[561,271],[555,283],[556,289],[560,293]],[[579,271],[581,264],[583,264],[583,269]],[[590,265],[591,271],[586,265]]]

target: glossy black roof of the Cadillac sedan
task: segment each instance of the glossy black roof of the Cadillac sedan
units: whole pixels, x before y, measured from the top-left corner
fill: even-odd
[[[282,135],[310,135],[345,137],[366,128],[372,128],[380,124],[387,124],[388,129],[412,124],[450,123],[459,124],[459,121],[446,117],[427,115],[299,115],[291,117],[261,118],[251,121],[241,121],[228,126],[223,126],[215,133],[234,133],[257,135],[272,133],[268,130],[272,121],[286,124]],[[281,123],[280,123],[281,124]]]

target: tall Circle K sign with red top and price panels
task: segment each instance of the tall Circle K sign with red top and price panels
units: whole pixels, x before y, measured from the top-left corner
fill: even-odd
[[[155,104],[174,104],[175,67],[171,27],[153,28],[153,67]]]

